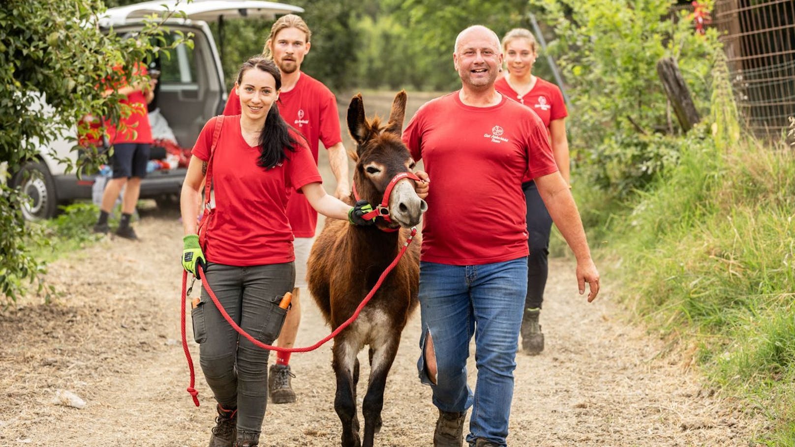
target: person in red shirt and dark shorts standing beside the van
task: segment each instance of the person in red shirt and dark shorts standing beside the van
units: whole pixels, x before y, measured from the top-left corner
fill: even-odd
[[[113,147],[111,155],[111,166],[113,176],[107,182],[102,196],[102,204],[99,207],[99,218],[94,225],[95,233],[106,234],[111,231],[107,223],[107,218],[113,210],[114,203],[118,198],[119,192],[124,188],[122,196],[122,218],[119,220],[116,235],[125,239],[138,239],[133,227],[130,227],[130,218],[135,212],[138,204],[138,196],[141,193],[141,180],[146,177],[146,163],[149,161],[149,146],[152,145],[152,128],[149,126],[149,115],[147,115],[147,99],[151,100],[151,95],[147,95],[152,84],[145,81],[138,81],[130,84],[127,81],[126,73],[123,68],[117,67],[114,70],[122,72],[122,84],[115,90],[119,95],[125,95],[120,101],[122,105],[130,107],[131,112],[128,116],[122,116],[119,126],[114,124],[105,127],[104,132],[107,142]],[[133,70],[133,76],[147,76],[144,64],[137,64]],[[114,93],[114,89],[109,88],[103,92],[104,96]]]

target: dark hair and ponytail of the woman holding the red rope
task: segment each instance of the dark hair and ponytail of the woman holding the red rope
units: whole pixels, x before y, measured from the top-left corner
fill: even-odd
[[[238,85],[242,82],[243,73],[251,68],[257,68],[263,72],[270,73],[276,80],[276,90],[281,89],[281,72],[273,60],[265,57],[252,57],[246,60],[238,72]],[[271,104],[270,111],[262,126],[259,134],[260,154],[257,161],[258,166],[265,169],[273,168],[287,158],[287,151],[295,152],[298,141],[290,134],[290,126],[279,115],[279,108],[276,103]]]

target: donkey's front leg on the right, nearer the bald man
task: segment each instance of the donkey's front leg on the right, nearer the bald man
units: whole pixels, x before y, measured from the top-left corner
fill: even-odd
[[[390,335],[380,346],[371,350],[370,382],[367,383],[367,393],[362,402],[362,412],[364,414],[363,447],[372,447],[375,433],[381,430],[381,410],[384,406],[386,376],[390,373],[399,344],[400,332],[397,332],[394,335]]]

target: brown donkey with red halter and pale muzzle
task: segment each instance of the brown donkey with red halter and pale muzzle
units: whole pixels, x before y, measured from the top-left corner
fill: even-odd
[[[405,100],[405,91],[395,96],[386,126],[378,118],[372,121],[365,118],[362,95],[355,95],[348,107],[348,130],[356,142],[355,152],[349,154],[356,162],[350,200],[363,199],[370,204],[388,203],[388,206],[378,207],[376,223],[369,227],[327,220],[312,246],[307,266],[309,291],[332,329],[353,315],[403,247],[409,235],[406,228],[417,225],[428,208],[425,200],[414,192],[416,177],[411,173],[414,161],[401,141]],[[419,244],[416,240],[409,245],[359,317],[334,339],[332,367],[337,380],[334,408],[343,426],[343,447],[372,447],[374,435],[381,428],[386,375],[397,354],[406,321],[417,308]],[[356,356],[365,344],[370,345],[370,379],[362,404],[364,441],[361,443],[356,414],[359,382]]]

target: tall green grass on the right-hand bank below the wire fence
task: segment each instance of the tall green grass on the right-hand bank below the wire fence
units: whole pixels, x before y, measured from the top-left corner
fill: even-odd
[[[795,153],[718,146],[704,129],[685,138],[680,163],[591,245],[610,237],[599,255],[619,261],[622,298],[770,420],[755,441],[795,445]]]

